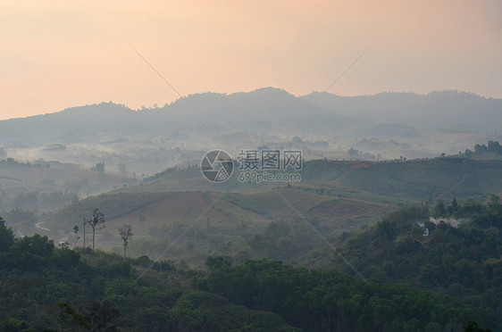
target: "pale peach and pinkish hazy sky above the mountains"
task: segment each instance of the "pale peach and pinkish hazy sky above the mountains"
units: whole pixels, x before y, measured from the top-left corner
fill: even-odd
[[[0,119],[281,87],[502,97],[502,2],[0,0]]]

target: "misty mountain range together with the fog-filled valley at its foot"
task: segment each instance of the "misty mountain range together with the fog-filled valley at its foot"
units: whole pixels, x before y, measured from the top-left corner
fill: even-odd
[[[360,159],[410,159],[455,154],[479,142],[500,140],[501,99],[456,91],[354,97],[327,93],[316,100],[319,94],[297,97],[266,87],[231,95],[188,95],[189,105],[179,99],[138,111],[113,103],[86,105],[0,121],[0,147],[20,160],[87,165],[106,160],[115,168],[126,162],[130,170],[152,174],[197,160],[211,148],[236,154],[264,145],[297,147],[305,150],[306,159],[348,159],[346,152],[353,147],[368,153]],[[293,137],[299,137],[296,143]],[[150,158],[149,169],[139,166],[140,158]]]

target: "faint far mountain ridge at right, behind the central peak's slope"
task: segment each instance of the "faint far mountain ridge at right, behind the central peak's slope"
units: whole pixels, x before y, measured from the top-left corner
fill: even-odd
[[[305,95],[315,100],[319,92]],[[382,93],[339,96],[325,94],[316,103],[341,115],[370,120],[376,124],[400,123],[416,129],[450,129],[493,132],[502,128],[502,99],[484,98],[457,91],[428,95]]]

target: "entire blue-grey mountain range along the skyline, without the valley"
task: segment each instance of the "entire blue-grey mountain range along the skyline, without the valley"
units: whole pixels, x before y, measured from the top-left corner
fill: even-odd
[[[409,145],[409,149],[423,149],[435,155],[442,150],[460,151],[464,145],[482,143],[481,138],[491,139],[502,128],[502,99],[456,91],[354,97],[325,94],[313,104],[319,94],[297,97],[279,88],[265,87],[231,95],[188,95],[185,100],[138,111],[120,104],[92,104],[2,120],[0,142],[7,148],[94,145],[117,140],[182,142],[186,148],[200,150],[225,146],[224,140],[241,148],[290,142],[295,136],[330,143],[334,139],[337,144],[368,137],[399,140]],[[438,130],[440,134],[431,137]],[[444,133],[468,135],[441,136]],[[347,149],[353,145],[342,146]]]

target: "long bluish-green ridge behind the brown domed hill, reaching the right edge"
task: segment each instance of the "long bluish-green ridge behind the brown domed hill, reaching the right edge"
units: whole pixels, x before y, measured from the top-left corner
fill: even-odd
[[[476,156],[476,155],[475,155]],[[222,184],[202,177],[197,167],[159,173],[143,187],[121,191],[268,191],[285,184],[239,183],[238,173]],[[310,161],[299,172],[302,181],[292,187],[324,188],[333,195],[357,198],[355,194],[389,197],[394,203],[406,200],[464,199],[488,197],[502,188],[502,161],[478,160],[458,156],[413,161],[356,162]],[[366,196],[364,199],[368,198]],[[380,198],[380,199],[381,199]]]

